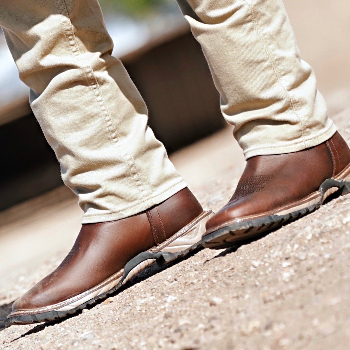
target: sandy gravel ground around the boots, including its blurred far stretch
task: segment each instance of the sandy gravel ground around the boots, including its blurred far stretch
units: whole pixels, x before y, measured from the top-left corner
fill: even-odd
[[[302,55],[350,143],[349,1],[285,3]],[[172,157],[214,211],[228,201],[244,166],[237,147],[225,142],[220,136],[193,146],[195,155],[185,150],[186,164]],[[75,199],[65,189],[52,197],[55,205],[46,196],[0,213],[0,349],[350,348],[350,195],[251,244],[151,266],[77,316],[3,328],[12,302],[59,264],[79,229]],[[25,219],[14,222],[16,215]]]

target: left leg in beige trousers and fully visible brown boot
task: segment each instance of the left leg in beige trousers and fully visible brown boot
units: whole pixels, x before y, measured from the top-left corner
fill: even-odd
[[[147,109],[95,0],[2,1],[0,25],[30,103],[79,198],[68,256],[19,298],[9,324],[75,313],[155,260],[198,247],[204,212],[147,127]]]

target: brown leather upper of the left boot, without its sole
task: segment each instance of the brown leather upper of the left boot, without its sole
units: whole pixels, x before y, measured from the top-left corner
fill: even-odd
[[[203,209],[188,188],[148,210],[160,244],[199,216]],[[57,269],[17,299],[13,311],[49,306],[109,278],[137,254],[155,246],[146,212],[125,219],[84,224]]]

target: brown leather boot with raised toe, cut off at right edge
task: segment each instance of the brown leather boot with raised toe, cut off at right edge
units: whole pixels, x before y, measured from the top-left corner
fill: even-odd
[[[207,222],[202,244],[221,249],[262,236],[350,193],[350,150],[336,132],[303,151],[248,159],[236,191]]]

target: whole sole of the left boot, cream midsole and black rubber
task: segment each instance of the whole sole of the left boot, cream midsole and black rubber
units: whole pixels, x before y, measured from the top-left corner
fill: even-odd
[[[40,309],[18,310],[10,313],[7,316],[8,325],[53,321],[75,314],[79,310],[105,299],[155,261],[162,266],[186,256],[189,252],[201,247],[205,223],[212,215],[214,214],[211,210],[204,211],[165,242],[136,255],[127,262],[123,269],[79,295]]]

